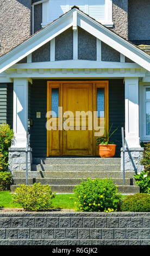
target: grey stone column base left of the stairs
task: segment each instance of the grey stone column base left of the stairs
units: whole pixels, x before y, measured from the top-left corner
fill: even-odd
[[[28,149],[28,170],[32,168],[32,148]],[[8,171],[26,170],[26,148],[9,148]]]

